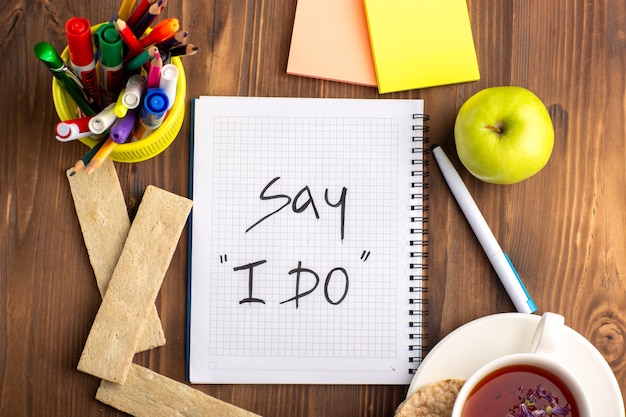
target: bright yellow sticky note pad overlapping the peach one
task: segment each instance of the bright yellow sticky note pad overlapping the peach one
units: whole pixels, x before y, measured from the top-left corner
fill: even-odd
[[[378,91],[480,79],[465,0],[364,0]]]

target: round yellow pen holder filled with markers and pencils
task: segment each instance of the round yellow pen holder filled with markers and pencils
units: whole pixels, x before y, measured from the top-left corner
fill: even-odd
[[[94,32],[100,25],[93,26],[91,31]],[[67,61],[69,50],[66,47],[61,53],[61,58]],[[168,146],[176,139],[178,132],[185,119],[185,93],[187,90],[187,80],[185,78],[185,70],[179,57],[172,57],[172,64],[178,68],[178,83],[176,85],[176,100],[169,111],[169,114],[154,132],[146,136],[144,139],[131,143],[122,143],[115,147],[110,158],[117,162],[141,162],[146,159],[155,157],[156,155],[167,149]],[[77,106],[74,100],[63,90],[56,78],[52,79],[52,100],[54,107],[59,115],[59,119],[71,120],[78,117]],[[98,141],[92,137],[79,139],[90,148]],[[104,140],[104,139],[103,139]]]

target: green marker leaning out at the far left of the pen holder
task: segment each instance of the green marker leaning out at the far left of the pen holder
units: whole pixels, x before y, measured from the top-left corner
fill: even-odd
[[[81,88],[81,82],[76,74],[63,62],[56,49],[48,42],[39,42],[34,48],[35,55],[50,70],[61,88],[74,100],[74,103],[86,116],[93,116],[98,112],[98,106]]]

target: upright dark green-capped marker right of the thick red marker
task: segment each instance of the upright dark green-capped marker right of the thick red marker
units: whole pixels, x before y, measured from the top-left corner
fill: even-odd
[[[106,23],[98,31],[100,51],[100,93],[102,105],[106,106],[117,99],[124,85],[123,42],[115,29],[115,24]]]

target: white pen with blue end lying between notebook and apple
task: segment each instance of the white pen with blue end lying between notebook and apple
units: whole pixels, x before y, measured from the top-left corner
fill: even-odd
[[[439,166],[439,170],[443,175],[448,187],[459,207],[463,211],[467,222],[470,224],[474,234],[478,238],[480,245],[487,254],[493,269],[496,271],[498,278],[502,282],[506,292],[513,301],[515,308],[520,313],[533,313],[537,310],[534,301],[528,295],[528,291],[522,280],[520,279],[511,260],[498,244],[493,232],[487,225],[485,218],[472,198],[469,190],[463,183],[461,176],[458,174],[450,159],[443,149],[435,145],[432,148],[433,156]]]

